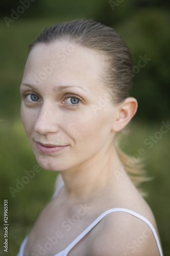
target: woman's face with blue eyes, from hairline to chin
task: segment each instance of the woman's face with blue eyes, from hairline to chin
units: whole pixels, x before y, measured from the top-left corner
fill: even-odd
[[[21,83],[21,119],[39,165],[62,171],[107,150],[116,108],[104,57],[67,41],[37,44]]]

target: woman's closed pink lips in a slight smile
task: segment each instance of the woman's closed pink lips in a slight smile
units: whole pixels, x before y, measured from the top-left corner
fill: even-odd
[[[45,154],[51,154],[64,150],[68,145],[54,145],[54,144],[42,144],[36,141],[38,149]]]

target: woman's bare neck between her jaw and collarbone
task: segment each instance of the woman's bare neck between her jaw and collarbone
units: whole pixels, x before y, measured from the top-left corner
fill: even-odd
[[[115,170],[122,169],[114,145],[102,150],[86,162],[61,172],[67,198],[87,201],[116,182]]]

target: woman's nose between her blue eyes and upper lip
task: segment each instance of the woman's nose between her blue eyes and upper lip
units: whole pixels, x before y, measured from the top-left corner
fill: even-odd
[[[52,105],[43,105],[34,124],[34,131],[41,135],[59,131],[59,115]]]

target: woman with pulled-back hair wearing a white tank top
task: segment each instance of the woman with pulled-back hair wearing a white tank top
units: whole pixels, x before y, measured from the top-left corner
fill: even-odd
[[[38,164],[60,174],[18,255],[162,255],[140,178],[115,143],[137,110],[131,74],[125,42],[93,20],[57,24],[30,45],[21,118]]]

